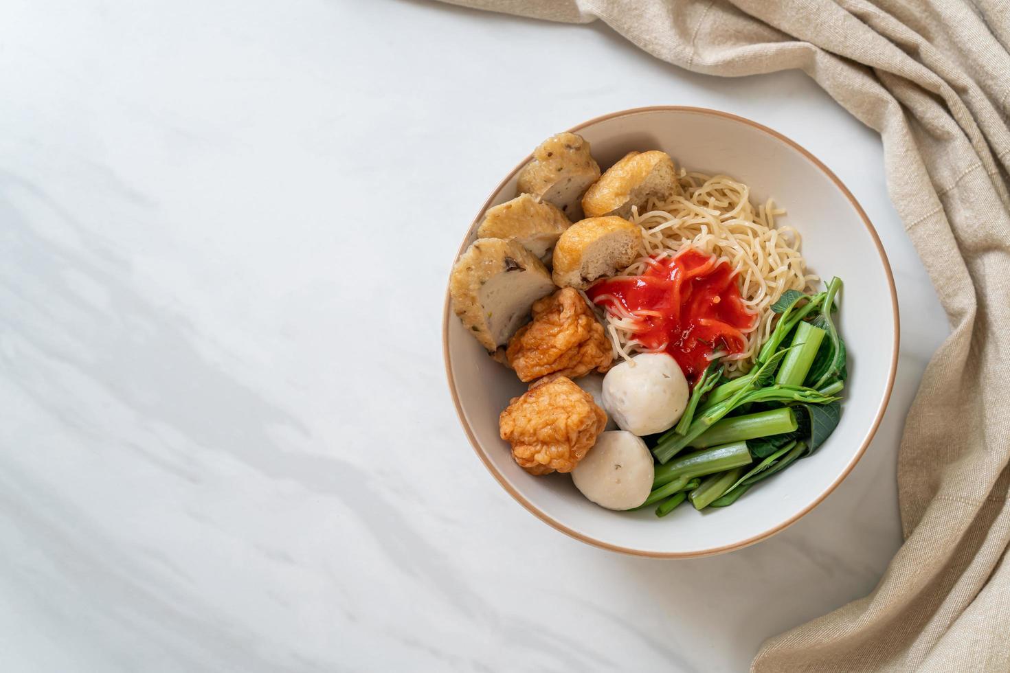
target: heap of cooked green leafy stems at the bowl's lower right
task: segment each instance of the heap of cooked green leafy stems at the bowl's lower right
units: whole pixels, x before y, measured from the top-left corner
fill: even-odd
[[[660,465],[645,503],[659,502],[656,516],[685,498],[698,510],[728,507],[830,436],[847,377],[831,315],[840,289],[832,278],[817,295],[786,292],[772,306],[779,319],[749,373],[727,380],[715,363],[705,370],[680,422],[652,447]],[[743,413],[751,409],[760,411]],[[711,448],[674,458],[689,446]]]

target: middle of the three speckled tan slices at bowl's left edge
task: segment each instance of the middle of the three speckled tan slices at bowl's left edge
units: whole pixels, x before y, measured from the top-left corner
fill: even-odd
[[[548,264],[558,237],[570,224],[565,213],[556,206],[540,202],[532,195],[521,194],[489,208],[477,236],[515,240]]]

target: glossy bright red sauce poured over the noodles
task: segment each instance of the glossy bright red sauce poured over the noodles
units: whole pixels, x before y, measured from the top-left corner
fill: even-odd
[[[707,355],[742,352],[744,334],[758,326],[740,298],[736,271],[691,247],[653,260],[642,275],[606,278],[586,293],[612,315],[622,313],[615,301],[635,315],[642,326],[635,338],[673,355],[692,385],[708,366]]]

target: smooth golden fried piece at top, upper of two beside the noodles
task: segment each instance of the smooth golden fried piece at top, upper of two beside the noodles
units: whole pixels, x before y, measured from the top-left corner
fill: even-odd
[[[586,217],[631,217],[631,208],[643,212],[649,199],[666,201],[677,190],[677,171],[667,152],[652,149],[628,152],[603,174],[582,198]]]

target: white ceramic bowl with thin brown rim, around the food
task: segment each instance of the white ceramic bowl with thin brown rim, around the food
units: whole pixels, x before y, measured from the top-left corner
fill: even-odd
[[[526,386],[488,357],[449,311],[446,292],[445,367],[463,428],[478,456],[516,500],[584,542],[629,554],[691,557],[763,540],[810,512],[845,478],[884,415],[898,361],[898,304],[877,232],[823,163],[747,119],[700,108],[651,107],[616,112],[571,130],[589,140],[603,170],[629,150],[663,149],[679,166],[727,174],[750,186],[752,201],[773,196],[787,209],[783,223],[802,234],[802,251],[812,271],[844,282],[839,327],[848,346],[850,377],[841,421],[816,454],[763,482],[732,507],[700,514],[682,506],[662,520],[651,508],[610,512],[583,497],[570,475],[531,476],[512,460],[509,445],[498,436],[498,414]],[[515,196],[516,174],[529,158],[491,194],[460,252],[474,240],[484,211]]]

